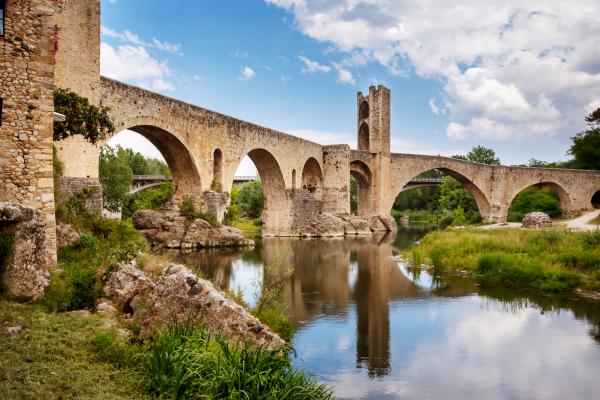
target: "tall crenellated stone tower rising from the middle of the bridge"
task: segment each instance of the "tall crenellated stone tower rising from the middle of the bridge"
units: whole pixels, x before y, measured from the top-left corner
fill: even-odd
[[[368,95],[357,94],[357,148],[360,159],[370,169],[368,189],[363,188],[359,193],[361,216],[390,214],[390,210],[386,209],[389,204],[387,188],[391,183],[390,103],[391,92],[381,85],[371,86]]]

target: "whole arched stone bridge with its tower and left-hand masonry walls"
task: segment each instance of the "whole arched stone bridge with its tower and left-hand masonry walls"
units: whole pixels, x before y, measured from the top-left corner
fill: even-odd
[[[537,184],[554,188],[565,215],[600,204],[597,171],[489,166],[391,153],[391,94],[385,87],[357,95],[356,150],[347,144],[324,146],[101,78],[98,0],[6,4],[5,35],[0,37],[0,64],[5,66],[0,68],[0,201],[41,210],[53,259],[53,145],[64,162],[61,187],[99,187],[98,146],[78,137],[52,142],[52,91],[57,87],[110,107],[117,132],[136,131],[162,152],[173,174],[175,201],[189,196],[218,218],[229,202],[234,173],[249,156],[264,186],[266,235],[314,234],[319,229],[338,234],[339,224],[337,231],[328,228],[335,218],[343,218],[346,233],[367,232],[349,216],[350,175],[359,186],[359,216],[373,230],[394,228],[385,221],[390,222],[395,197],[431,169],[462,182],[487,221],[504,221],[516,194]]]

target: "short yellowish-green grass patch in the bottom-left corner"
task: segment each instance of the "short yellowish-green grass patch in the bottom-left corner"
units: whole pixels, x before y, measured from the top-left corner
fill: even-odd
[[[101,322],[0,300],[0,398],[151,398],[135,370],[98,359],[89,343]],[[24,332],[8,337],[5,328],[15,325]]]

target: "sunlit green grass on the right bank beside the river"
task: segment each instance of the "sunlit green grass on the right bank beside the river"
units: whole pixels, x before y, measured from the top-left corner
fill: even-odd
[[[441,273],[467,271],[483,283],[566,292],[600,290],[600,233],[549,229],[432,232],[406,250]]]

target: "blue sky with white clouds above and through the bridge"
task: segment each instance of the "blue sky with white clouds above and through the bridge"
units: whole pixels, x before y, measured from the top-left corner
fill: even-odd
[[[600,107],[598,37],[597,0],[102,0],[101,72],[353,148],[356,93],[381,84],[393,152],[522,164],[566,159]]]

